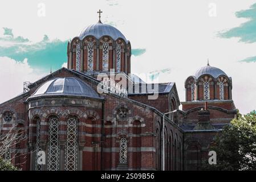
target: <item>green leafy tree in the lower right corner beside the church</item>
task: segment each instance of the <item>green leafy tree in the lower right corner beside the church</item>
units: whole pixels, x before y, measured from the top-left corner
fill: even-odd
[[[205,164],[205,169],[256,170],[256,113],[237,114],[224,127],[210,150],[217,153],[217,164]]]

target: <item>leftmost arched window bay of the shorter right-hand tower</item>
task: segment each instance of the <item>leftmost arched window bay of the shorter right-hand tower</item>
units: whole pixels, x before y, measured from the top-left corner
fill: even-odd
[[[186,90],[186,101],[196,101],[197,100],[197,78],[195,76],[189,76],[185,81]]]

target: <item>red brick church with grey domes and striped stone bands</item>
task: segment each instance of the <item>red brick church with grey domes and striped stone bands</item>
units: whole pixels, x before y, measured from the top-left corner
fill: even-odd
[[[152,89],[131,74],[131,50],[99,16],[68,42],[67,68],[0,104],[0,135],[26,135],[1,157],[35,171],[200,170],[236,117],[231,77],[208,64],[185,80],[181,102],[175,82]]]

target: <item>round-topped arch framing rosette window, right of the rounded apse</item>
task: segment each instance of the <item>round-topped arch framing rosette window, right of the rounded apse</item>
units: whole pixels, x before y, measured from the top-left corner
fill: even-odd
[[[132,115],[132,110],[125,104],[120,104],[113,110],[112,121],[128,121]]]

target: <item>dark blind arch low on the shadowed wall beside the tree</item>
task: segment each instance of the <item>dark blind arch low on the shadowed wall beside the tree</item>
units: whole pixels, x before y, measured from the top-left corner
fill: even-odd
[[[201,168],[201,144],[196,138],[184,142],[185,170],[198,170]]]

